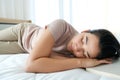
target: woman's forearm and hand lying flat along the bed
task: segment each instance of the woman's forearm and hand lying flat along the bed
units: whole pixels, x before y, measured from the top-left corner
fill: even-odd
[[[106,60],[96,60],[96,59],[77,59],[77,58],[67,58],[67,59],[56,59],[56,58],[39,58],[30,64],[26,71],[27,72],[58,72],[63,70],[69,70],[74,68],[86,68],[94,67],[102,63],[110,63]]]

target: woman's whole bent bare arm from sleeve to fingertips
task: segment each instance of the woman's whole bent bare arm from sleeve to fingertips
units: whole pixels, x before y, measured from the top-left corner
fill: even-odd
[[[38,38],[33,50],[31,51],[26,64],[27,72],[55,72],[69,70],[73,68],[84,68],[106,63],[95,59],[79,59],[79,58],[64,58],[50,57],[54,39],[48,29],[43,33],[43,36]]]

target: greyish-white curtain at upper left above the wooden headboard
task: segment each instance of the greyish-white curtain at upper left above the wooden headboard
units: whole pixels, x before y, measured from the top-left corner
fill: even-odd
[[[0,0],[0,17],[34,20],[34,1]]]

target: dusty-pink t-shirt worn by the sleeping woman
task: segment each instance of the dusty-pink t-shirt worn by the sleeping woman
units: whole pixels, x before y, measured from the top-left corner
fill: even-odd
[[[62,19],[55,20],[46,25],[46,27],[50,30],[55,40],[55,45],[52,50],[57,53],[69,55],[70,52],[67,50],[67,44],[74,35],[78,34],[78,32]],[[32,48],[34,48],[35,40],[37,39],[37,36],[41,34],[43,29],[44,28],[35,24],[31,24],[25,29],[22,43],[27,52],[30,52]]]

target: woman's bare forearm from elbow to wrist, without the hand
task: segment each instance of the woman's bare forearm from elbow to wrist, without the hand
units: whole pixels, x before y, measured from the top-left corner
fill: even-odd
[[[77,59],[39,58],[27,66],[27,72],[57,72],[78,68]]]

